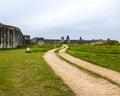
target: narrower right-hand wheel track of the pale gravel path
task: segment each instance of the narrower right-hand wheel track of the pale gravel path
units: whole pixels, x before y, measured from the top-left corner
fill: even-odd
[[[68,61],[71,61],[72,63],[75,63],[81,67],[84,67],[90,71],[93,71],[95,73],[100,74],[101,76],[107,77],[115,82],[117,82],[120,85],[120,73],[110,70],[110,69],[106,69],[94,64],[91,64],[87,61],[83,61],[81,59],[75,58],[67,53],[65,53],[65,50],[67,49],[68,46],[64,45],[62,50],[59,51],[59,54],[64,57],[65,59],[67,59]]]

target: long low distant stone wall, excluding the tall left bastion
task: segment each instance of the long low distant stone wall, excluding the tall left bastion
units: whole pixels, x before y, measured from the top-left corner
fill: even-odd
[[[35,37],[31,40],[32,44],[103,44],[105,40],[97,39],[97,40],[64,40],[62,37],[61,40],[59,39],[44,39],[40,37]]]

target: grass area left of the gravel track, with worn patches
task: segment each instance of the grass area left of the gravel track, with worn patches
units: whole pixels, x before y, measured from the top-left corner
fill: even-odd
[[[55,46],[0,49],[0,96],[75,96],[42,58]]]

